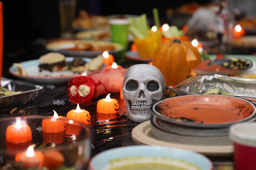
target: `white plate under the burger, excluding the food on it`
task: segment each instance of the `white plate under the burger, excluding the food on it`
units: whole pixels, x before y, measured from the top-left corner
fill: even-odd
[[[82,59],[86,62],[90,62],[90,60],[91,60],[91,58],[82,58]],[[72,61],[73,57],[66,57],[66,60],[67,60],[67,62]],[[14,75],[18,79],[22,79],[25,81],[34,82],[34,83],[38,83],[38,84],[61,84],[61,83],[68,82],[73,77],[82,75],[82,74],[78,74],[78,73],[72,73],[69,70],[54,71],[54,72],[43,70],[43,71],[39,72],[38,59],[20,62],[20,64],[26,70],[27,75],[17,74],[16,73],[17,67],[14,67],[14,66],[11,66],[9,68],[9,73]],[[102,68],[104,68],[104,67],[105,67],[105,65],[102,66]],[[97,73],[101,69],[99,69],[97,71],[93,71],[93,72],[88,72],[87,74],[90,75],[90,74]]]

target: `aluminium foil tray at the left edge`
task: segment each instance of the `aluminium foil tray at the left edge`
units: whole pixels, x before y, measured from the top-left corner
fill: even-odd
[[[5,87],[9,91],[21,92],[0,97],[0,109],[13,108],[28,104],[35,100],[38,96],[39,90],[44,88],[38,84],[7,79],[4,77],[1,78],[1,87]]]

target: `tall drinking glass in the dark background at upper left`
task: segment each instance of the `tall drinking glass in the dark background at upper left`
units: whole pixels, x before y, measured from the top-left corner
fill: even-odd
[[[60,12],[60,37],[73,38],[72,22],[76,12],[76,0],[58,0]]]

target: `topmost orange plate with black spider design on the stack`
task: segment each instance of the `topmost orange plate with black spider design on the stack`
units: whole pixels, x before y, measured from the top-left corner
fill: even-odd
[[[226,95],[177,96],[155,103],[153,113],[160,119],[194,127],[225,127],[250,120],[255,106],[248,100]]]

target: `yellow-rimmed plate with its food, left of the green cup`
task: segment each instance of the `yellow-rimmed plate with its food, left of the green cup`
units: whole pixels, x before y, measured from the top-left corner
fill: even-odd
[[[78,48],[79,49],[78,49]],[[80,47],[82,47],[80,49]],[[46,44],[45,48],[51,52],[59,52],[66,56],[77,56],[94,58],[108,50],[109,54],[114,54],[123,50],[123,46],[110,41],[92,40],[61,40]]]

